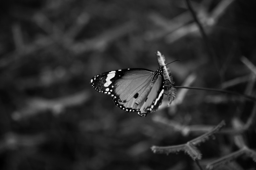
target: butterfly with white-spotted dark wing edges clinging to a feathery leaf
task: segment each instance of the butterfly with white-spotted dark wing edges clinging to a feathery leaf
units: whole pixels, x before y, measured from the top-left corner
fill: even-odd
[[[163,74],[164,66],[156,71],[121,69],[96,75],[90,84],[98,92],[110,95],[120,109],[138,112],[139,116],[145,117],[162,103],[166,90]]]

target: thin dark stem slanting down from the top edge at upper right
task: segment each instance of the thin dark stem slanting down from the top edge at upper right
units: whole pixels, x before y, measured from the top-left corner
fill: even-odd
[[[217,55],[215,54],[212,46],[211,46],[211,43],[204,31],[204,28],[202,26],[202,24],[199,22],[197,16],[196,16],[196,12],[193,10],[191,4],[190,4],[190,0],[186,0],[186,3],[187,3],[187,6],[188,6],[188,9],[189,11],[191,12],[195,22],[196,22],[196,25],[199,27],[199,30],[200,30],[200,33],[202,34],[202,37],[203,37],[203,40],[204,40],[204,44],[206,46],[206,50],[208,52],[208,55],[212,58],[212,61],[214,62],[214,65],[215,65],[215,68],[216,70],[220,70],[220,66],[218,64],[218,61],[217,61]],[[220,74],[220,72],[219,72]],[[220,75],[220,78],[222,79],[221,75]]]

